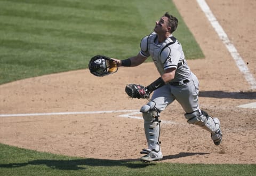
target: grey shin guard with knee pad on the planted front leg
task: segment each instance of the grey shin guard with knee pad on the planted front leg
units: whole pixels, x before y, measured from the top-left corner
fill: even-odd
[[[144,130],[150,150],[160,150],[159,135],[160,135],[160,121],[158,119],[158,111],[155,108],[155,102],[150,101],[140,109],[144,119]]]

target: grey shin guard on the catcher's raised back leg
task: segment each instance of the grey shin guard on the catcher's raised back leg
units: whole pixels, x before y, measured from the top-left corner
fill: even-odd
[[[201,115],[198,111],[193,113],[185,114],[185,117],[188,119],[189,124],[196,124],[202,126],[207,131],[210,131],[212,134],[215,134],[220,129],[220,122],[215,118],[209,116],[205,111],[201,111]]]

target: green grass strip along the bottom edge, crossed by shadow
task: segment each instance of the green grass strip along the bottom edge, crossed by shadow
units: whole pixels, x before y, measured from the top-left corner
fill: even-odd
[[[253,175],[252,164],[172,164],[81,158],[0,144],[0,175]]]

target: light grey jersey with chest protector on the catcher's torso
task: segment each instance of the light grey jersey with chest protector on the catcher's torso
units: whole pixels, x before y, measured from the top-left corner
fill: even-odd
[[[140,47],[142,56],[149,57],[151,55],[161,76],[166,69],[176,68],[175,77],[171,82],[179,82],[190,78],[191,71],[185,60],[182,46],[172,35],[163,43],[158,43],[157,34],[153,32],[142,38]]]

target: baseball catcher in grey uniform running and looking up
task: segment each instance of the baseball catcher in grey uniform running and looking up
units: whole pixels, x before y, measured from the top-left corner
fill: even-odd
[[[214,145],[219,146],[222,141],[220,120],[199,107],[199,81],[188,66],[180,42],[173,36],[177,26],[178,19],[166,12],[156,21],[154,31],[141,39],[137,55],[124,60],[115,59],[119,67],[136,67],[151,56],[160,75],[148,86],[128,84],[125,87],[126,93],[132,98],[149,99],[152,93],[149,102],[140,109],[148,144],[147,148],[141,151],[144,155],[140,157],[142,162],[158,161],[163,158],[159,141],[159,114],[174,100],[183,108],[187,123],[203,127],[202,133],[210,133]],[[193,147],[191,149],[193,150]]]

